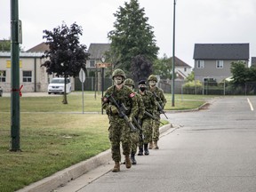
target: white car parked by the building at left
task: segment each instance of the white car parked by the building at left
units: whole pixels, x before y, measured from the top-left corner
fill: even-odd
[[[71,82],[67,78],[66,93],[71,92]],[[52,81],[48,85],[48,94],[64,93],[64,77],[52,78]]]

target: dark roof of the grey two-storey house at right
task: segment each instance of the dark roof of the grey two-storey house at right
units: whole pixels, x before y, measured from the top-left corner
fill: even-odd
[[[195,44],[194,60],[249,60],[249,44]]]

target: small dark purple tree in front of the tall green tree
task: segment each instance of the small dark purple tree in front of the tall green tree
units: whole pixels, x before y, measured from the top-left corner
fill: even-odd
[[[131,71],[135,82],[146,80],[152,73],[152,63],[145,56],[137,55],[132,58]]]

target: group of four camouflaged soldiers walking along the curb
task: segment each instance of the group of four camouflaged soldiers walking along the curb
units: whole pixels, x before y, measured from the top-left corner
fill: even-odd
[[[102,98],[102,108],[109,119],[108,138],[111,143],[112,172],[120,171],[122,143],[124,164],[131,168],[137,164],[135,155],[149,155],[148,149],[158,149],[160,114],[166,99],[162,89],[156,86],[154,75],[138,82],[138,92],[131,78],[127,78],[120,68],[112,74],[114,85],[108,87]]]

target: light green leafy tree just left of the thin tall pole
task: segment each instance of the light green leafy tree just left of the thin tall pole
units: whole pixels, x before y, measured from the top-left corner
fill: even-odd
[[[153,73],[159,75],[160,78],[172,79],[172,58],[168,58],[166,54],[163,58],[155,60],[153,68]]]

